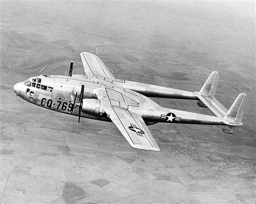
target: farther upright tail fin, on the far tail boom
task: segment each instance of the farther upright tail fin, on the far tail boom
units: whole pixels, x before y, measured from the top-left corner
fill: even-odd
[[[206,80],[204,86],[201,88],[199,94],[214,98],[218,80],[219,80],[219,73],[217,71],[213,71],[208,77],[208,79]]]

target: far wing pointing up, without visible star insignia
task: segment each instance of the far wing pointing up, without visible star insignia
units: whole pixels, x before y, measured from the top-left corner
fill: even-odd
[[[94,54],[82,52],[80,57],[83,62],[84,72],[87,76],[104,76],[105,78],[114,78],[107,69],[106,65]]]

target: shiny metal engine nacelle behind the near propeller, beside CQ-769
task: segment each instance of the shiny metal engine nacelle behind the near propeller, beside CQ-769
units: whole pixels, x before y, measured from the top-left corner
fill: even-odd
[[[105,111],[102,109],[100,100],[98,99],[83,99],[82,112],[90,115],[103,116]]]

